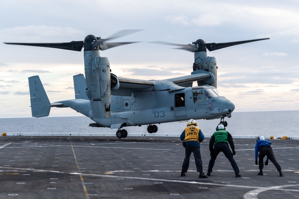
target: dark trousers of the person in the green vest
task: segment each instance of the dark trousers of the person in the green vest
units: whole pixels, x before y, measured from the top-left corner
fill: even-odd
[[[212,169],[215,164],[215,160],[217,158],[217,155],[220,152],[224,153],[225,157],[231,162],[231,166],[233,167],[235,173],[239,174],[239,167],[238,167],[235,159],[233,158],[233,154],[232,154],[231,150],[229,149],[227,143],[216,143],[214,145],[213,157],[211,157],[211,159],[210,159],[208,172],[212,172]]]

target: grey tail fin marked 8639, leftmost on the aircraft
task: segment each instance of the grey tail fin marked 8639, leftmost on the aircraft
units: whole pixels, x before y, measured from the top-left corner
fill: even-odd
[[[45,92],[42,82],[39,76],[28,77],[29,90],[30,90],[30,102],[32,117],[45,117],[48,116],[51,109],[51,103]]]

